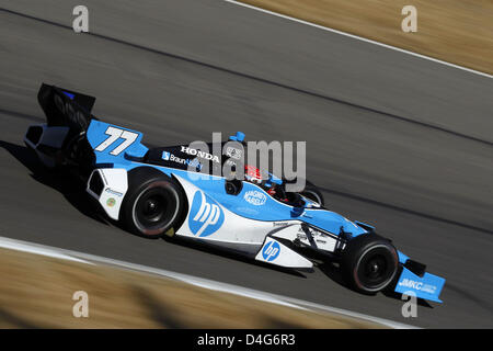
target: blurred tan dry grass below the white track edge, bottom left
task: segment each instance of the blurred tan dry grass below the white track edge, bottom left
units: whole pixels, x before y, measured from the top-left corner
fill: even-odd
[[[72,316],[76,291],[89,318]],[[0,328],[376,328],[105,265],[0,249]]]

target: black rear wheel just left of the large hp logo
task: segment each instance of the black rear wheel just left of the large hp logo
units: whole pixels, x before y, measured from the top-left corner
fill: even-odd
[[[172,236],[183,223],[186,199],[180,184],[162,172],[139,167],[128,172],[121,208],[126,228],[147,238]]]

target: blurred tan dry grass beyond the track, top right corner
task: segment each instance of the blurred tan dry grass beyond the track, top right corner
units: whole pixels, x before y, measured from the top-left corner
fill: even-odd
[[[493,73],[492,0],[240,0],[274,12]],[[404,5],[417,32],[404,33]]]

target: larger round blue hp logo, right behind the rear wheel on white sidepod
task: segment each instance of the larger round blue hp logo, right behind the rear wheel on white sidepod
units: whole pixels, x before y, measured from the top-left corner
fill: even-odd
[[[223,222],[222,208],[204,192],[197,190],[188,215],[188,227],[192,233],[199,237],[207,237],[216,233]]]

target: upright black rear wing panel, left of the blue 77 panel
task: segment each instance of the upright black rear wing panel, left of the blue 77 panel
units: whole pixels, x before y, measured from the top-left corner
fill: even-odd
[[[68,126],[72,132],[87,131],[95,98],[71,90],[43,83],[37,93],[37,101],[45,112],[47,125]]]

